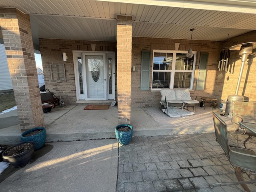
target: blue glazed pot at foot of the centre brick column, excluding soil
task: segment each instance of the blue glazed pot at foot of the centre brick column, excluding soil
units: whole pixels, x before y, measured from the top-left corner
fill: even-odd
[[[121,127],[129,127],[130,130],[129,131],[120,131],[119,129]],[[133,132],[133,129],[132,129],[131,125],[128,125],[128,124],[118,125],[118,126],[116,126],[116,130],[115,130],[116,139],[118,140],[118,142],[121,145],[127,145],[132,140],[132,132]]]

